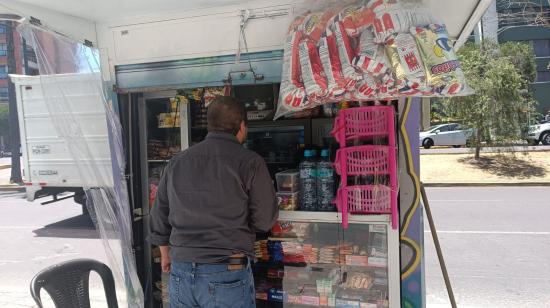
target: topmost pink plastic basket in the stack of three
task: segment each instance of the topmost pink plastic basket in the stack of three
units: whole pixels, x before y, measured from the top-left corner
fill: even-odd
[[[332,135],[345,147],[352,139],[387,137],[395,145],[395,112],[392,106],[358,107],[340,110]]]

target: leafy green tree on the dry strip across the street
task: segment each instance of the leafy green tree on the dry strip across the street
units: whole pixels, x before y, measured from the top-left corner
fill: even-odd
[[[536,76],[530,46],[468,43],[458,52],[474,95],[446,99],[447,114],[474,128],[471,142],[479,159],[483,144],[518,140],[534,110],[529,84]]]

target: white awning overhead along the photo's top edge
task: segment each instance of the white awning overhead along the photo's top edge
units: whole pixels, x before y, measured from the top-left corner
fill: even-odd
[[[449,34],[461,46],[490,5],[491,0],[425,0],[434,16],[447,25]],[[97,46],[97,24],[123,24],[139,16],[162,16],[176,11],[239,5],[242,0],[0,0],[0,14],[33,16],[51,29]],[[285,5],[284,0],[252,0],[247,3]]]

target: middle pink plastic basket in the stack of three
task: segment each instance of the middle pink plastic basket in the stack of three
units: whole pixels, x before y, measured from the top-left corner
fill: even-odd
[[[336,152],[334,167],[342,178],[357,175],[389,175],[390,178],[395,178],[396,148],[385,145],[342,148]]]

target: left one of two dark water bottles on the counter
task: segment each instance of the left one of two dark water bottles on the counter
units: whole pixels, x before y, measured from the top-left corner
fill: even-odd
[[[315,211],[317,207],[317,181],[315,157],[311,150],[304,151],[304,159],[300,163],[300,210]]]

